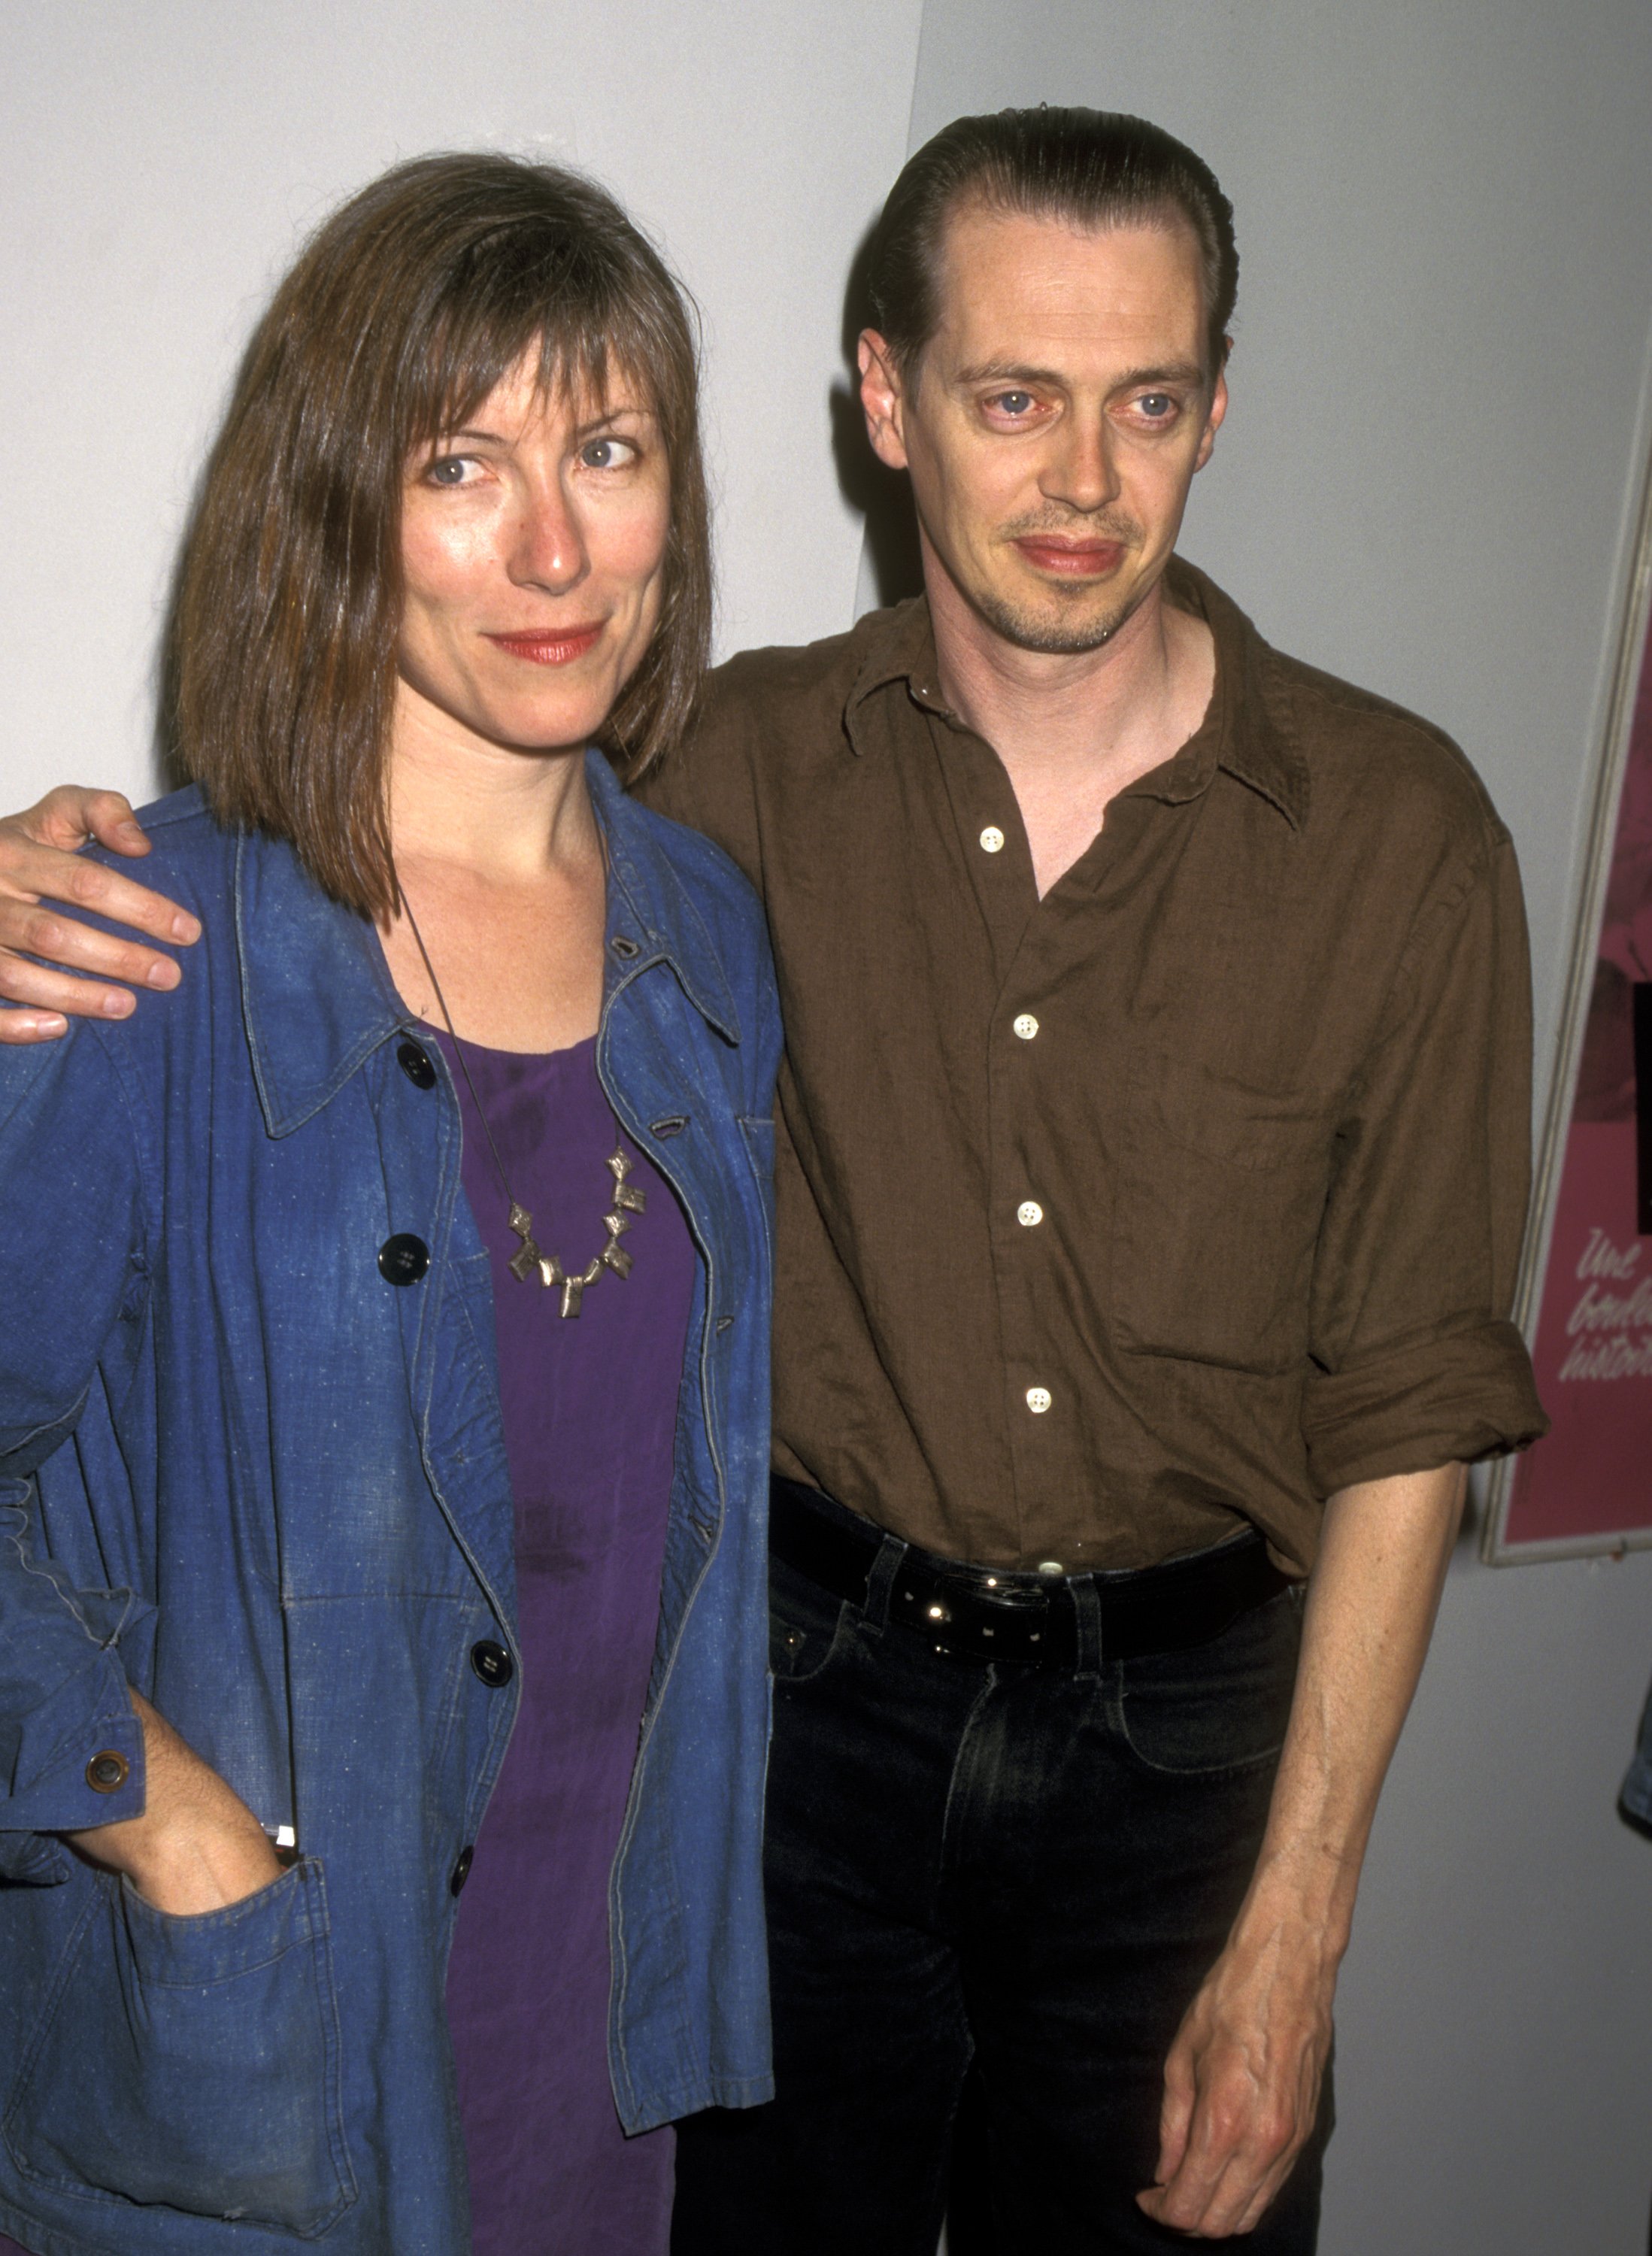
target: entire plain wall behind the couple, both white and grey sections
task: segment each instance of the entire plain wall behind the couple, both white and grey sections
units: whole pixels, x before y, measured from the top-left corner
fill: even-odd
[[[298,232],[379,165],[546,149],[666,241],[709,316],[727,650],[853,607],[826,395],[910,102],[919,138],[1099,102],[1239,208],[1234,406],[1185,546],[1467,744],[1521,846],[1546,1058],[1641,460],[1650,92],[1641,0],[0,0],[0,803],[149,790],[223,381]],[[1641,2256],[1652,1845],[1611,1798],[1647,1669],[1652,1554],[1458,1563],[1345,1974],[1327,2256]]]

